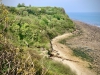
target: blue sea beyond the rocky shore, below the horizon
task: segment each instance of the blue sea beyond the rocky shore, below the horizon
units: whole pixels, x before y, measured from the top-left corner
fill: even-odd
[[[73,20],[85,22],[87,24],[96,25],[100,27],[100,12],[88,12],[88,13],[67,13]]]

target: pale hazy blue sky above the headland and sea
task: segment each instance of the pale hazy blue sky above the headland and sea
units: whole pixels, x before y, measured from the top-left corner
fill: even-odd
[[[63,7],[66,12],[100,12],[100,0],[2,0],[5,5],[17,6],[18,3],[32,6]]]

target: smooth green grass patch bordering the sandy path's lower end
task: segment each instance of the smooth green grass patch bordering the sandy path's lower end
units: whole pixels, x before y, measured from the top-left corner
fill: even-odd
[[[47,75],[76,75],[68,66],[60,62],[46,59],[45,66],[49,68],[49,72],[52,72],[52,74],[47,72]]]

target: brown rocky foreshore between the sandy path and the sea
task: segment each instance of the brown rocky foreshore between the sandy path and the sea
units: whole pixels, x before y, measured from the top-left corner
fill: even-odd
[[[100,27],[87,24],[78,20],[72,20],[78,30],[76,37],[66,40],[71,48],[82,48],[93,58],[92,68],[100,74]]]

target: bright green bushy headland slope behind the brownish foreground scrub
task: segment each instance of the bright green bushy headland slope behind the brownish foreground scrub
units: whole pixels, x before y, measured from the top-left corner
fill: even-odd
[[[10,12],[9,16],[14,18],[14,22],[9,26],[9,33],[16,37],[16,42],[22,46],[26,44],[45,46],[55,36],[74,30],[74,24],[63,8],[8,7],[7,9]]]

